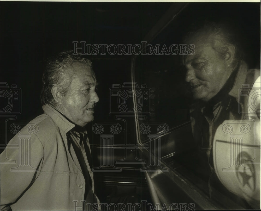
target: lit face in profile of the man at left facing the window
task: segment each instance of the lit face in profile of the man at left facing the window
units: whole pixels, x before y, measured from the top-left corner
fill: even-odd
[[[95,92],[94,72],[84,63],[73,64],[74,74],[68,93],[62,96],[63,114],[76,125],[85,126],[93,121],[94,104],[99,101]]]

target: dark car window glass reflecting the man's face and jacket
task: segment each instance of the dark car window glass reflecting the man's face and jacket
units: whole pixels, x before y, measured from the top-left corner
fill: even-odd
[[[145,116],[145,118],[137,121],[137,125],[140,131],[139,141],[144,146],[146,144],[149,145],[150,142],[152,142],[153,137],[155,138],[158,135],[158,137],[160,137],[158,138],[158,140],[160,139],[160,142],[157,142],[157,144],[160,143],[160,145],[155,146],[156,148],[158,147],[158,152],[156,152],[157,150],[155,150],[155,148],[149,148],[149,153],[157,156],[158,160],[161,160],[170,169],[179,171],[179,173],[181,173],[184,178],[187,178],[189,181],[192,182],[193,185],[199,187],[205,193],[205,196],[209,200],[218,202],[227,200],[229,198],[229,200],[232,200],[233,203],[238,204],[243,208],[259,207],[259,197],[256,197],[253,194],[259,194],[259,192],[255,192],[256,190],[250,190],[251,187],[252,189],[254,189],[256,187],[258,188],[259,185],[251,186],[252,183],[256,183],[251,183],[249,178],[252,177],[253,181],[255,181],[255,179],[257,178],[256,181],[258,181],[260,174],[246,176],[247,174],[245,173],[245,175],[243,176],[241,174],[235,177],[228,174],[227,177],[222,176],[223,170],[217,169],[217,166],[219,166],[221,159],[217,159],[215,157],[213,159],[213,155],[219,155],[222,157],[230,156],[230,154],[228,155],[230,151],[227,152],[227,154],[222,154],[222,151],[223,153],[225,151],[224,148],[230,149],[230,145],[221,145],[221,142],[219,142],[219,139],[223,138],[225,140],[224,142],[227,141],[230,144],[230,136],[220,135],[224,131],[224,128],[222,129],[222,125],[225,125],[226,123],[224,122],[224,120],[236,121],[227,122],[226,124],[252,124],[250,121],[239,121],[240,119],[245,119],[246,117],[246,115],[243,116],[244,111],[240,110],[243,107],[241,108],[238,102],[243,99],[243,97],[240,95],[236,98],[236,94],[238,94],[238,91],[240,90],[236,90],[236,94],[234,96],[232,96],[231,93],[235,90],[234,84],[236,83],[235,81],[238,80],[238,72],[240,72],[241,70],[243,71],[243,69],[247,70],[247,68],[260,69],[258,62],[260,59],[259,21],[257,21],[258,17],[256,17],[257,19],[255,19],[255,15],[253,15],[251,23],[247,21],[247,17],[249,18],[251,14],[253,14],[253,11],[256,11],[255,14],[259,14],[258,7],[258,4],[190,4],[182,11],[181,14],[179,14],[179,16],[176,17],[176,19],[174,19],[173,22],[171,22],[155,37],[154,40],[152,40],[147,45],[145,52],[149,53],[139,55],[135,59],[135,68],[133,72],[134,81],[135,83],[137,83],[138,87],[149,89],[149,100],[151,101],[150,103],[145,102],[146,100],[144,99],[146,96],[144,96],[143,92],[140,101],[143,102],[144,107],[142,108],[142,111],[144,113],[141,112],[139,115],[142,114]],[[246,11],[246,14],[242,16],[241,11]],[[197,13],[200,13],[201,15],[199,18],[196,18]],[[223,20],[221,20],[219,15],[221,13],[223,15]],[[195,33],[194,35],[190,35],[191,37],[186,40],[187,43],[183,40],[184,35],[188,31],[188,27],[192,25],[192,21],[194,22],[194,26],[199,23],[206,22],[222,22],[226,23],[227,25],[233,23],[231,31],[236,34],[234,38],[236,42],[240,45],[235,45],[233,42],[230,46],[234,45],[236,46],[236,49],[239,49],[239,47],[241,46],[241,50],[244,51],[244,54],[240,55],[242,57],[238,57],[240,59],[237,61],[237,63],[234,62],[234,60],[233,64],[231,63],[231,74],[228,74],[228,71],[230,71],[230,69],[226,69],[227,71],[224,71],[225,66],[221,66],[222,61],[224,60],[218,60],[219,57],[211,57],[212,53],[213,55],[216,53],[216,49],[214,49],[214,51],[213,49],[206,49],[205,47],[204,49],[202,48],[202,46],[206,44],[206,40],[208,39],[206,34],[209,33],[208,35],[210,36],[212,29],[209,29],[209,31],[197,31],[197,33]],[[244,27],[242,27],[242,25]],[[211,27],[213,28],[213,25]],[[204,30],[207,30],[206,27],[204,28]],[[205,34],[203,32],[205,32]],[[229,34],[226,34],[226,36],[228,37]],[[198,41],[199,38],[200,41]],[[244,40],[248,41],[247,44],[246,42],[244,42]],[[257,42],[258,45],[255,44]],[[184,55],[182,55],[189,54],[189,48],[183,48],[183,44],[195,44],[194,46],[190,46],[192,55],[191,57],[184,57]],[[175,47],[175,53],[173,53],[173,51],[172,53],[170,52],[171,49],[173,50],[173,48],[170,48],[171,45]],[[200,45],[201,48],[198,47]],[[184,53],[182,50],[184,50],[185,52],[187,50],[187,52]],[[229,52],[233,51],[234,49],[231,50],[229,47],[229,49],[226,51],[226,55],[228,55]],[[201,54],[199,52],[201,52]],[[202,52],[207,58],[205,58],[204,61],[202,60],[202,58],[201,60],[198,60],[198,58],[196,58],[198,55],[202,56]],[[220,53],[221,51],[218,52]],[[237,52],[239,51],[236,51],[236,56],[238,56]],[[185,61],[184,58],[186,58],[187,60],[185,59]],[[188,62],[189,58],[192,58],[193,62]],[[215,60],[215,62],[210,61],[211,58]],[[207,65],[209,65],[211,62],[215,64],[214,66],[211,66],[211,69],[209,69],[209,73],[212,71],[213,76],[215,76],[212,78],[210,77],[210,75],[204,75],[204,71],[206,71]],[[248,64],[248,67],[245,64]],[[215,68],[219,65],[223,72],[217,74],[218,69]],[[194,78],[189,78],[189,74],[192,74],[191,72],[189,72],[191,70],[194,71]],[[252,87],[252,84],[257,80],[258,75],[256,74],[257,71],[251,71],[249,72],[251,72],[253,79],[251,82],[250,80],[247,81],[248,83],[251,83]],[[245,78],[244,81],[240,84],[239,88],[242,88],[242,84],[244,84],[244,82]],[[204,89],[204,84],[210,84],[210,87]],[[249,93],[247,90],[244,91],[246,93]],[[136,96],[136,98],[137,97],[138,96]],[[235,100],[235,98],[237,99],[237,101]],[[243,100],[241,100],[241,104],[242,102]],[[201,107],[194,108],[193,110],[192,104],[197,103],[200,104]],[[225,107],[224,111],[222,110],[222,106]],[[247,106],[245,107],[247,108]],[[209,110],[210,108],[213,109],[213,112],[211,112],[212,110]],[[235,108],[235,112],[232,108]],[[150,112],[148,112],[148,110]],[[247,112],[248,111],[246,111],[246,113]],[[255,117],[258,116],[258,111],[257,115],[254,112],[252,113],[253,114],[251,115],[254,115]],[[214,119],[215,116],[216,120]],[[258,117],[256,117],[254,122],[256,125],[260,123],[260,113],[259,119]],[[164,124],[168,126],[166,127],[168,128],[168,132],[161,132],[159,130],[159,127],[157,127]],[[148,128],[150,128],[149,132],[144,131],[144,128],[142,128],[144,127],[144,125],[147,125]],[[252,126],[252,128],[255,127],[256,126]],[[235,127],[235,129],[239,128]],[[254,135],[255,132],[253,132],[252,136],[249,136],[248,139],[252,139],[251,137],[254,137]],[[258,146],[260,145],[260,135],[255,137],[257,137],[257,142],[255,142],[255,144],[257,144],[256,148],[258,149]],[[238,144],[239,142],[235,143]],[[250,145],[249,142],[247,142],[247,144]],[[215,147],[213,148],[213,146]],[[254,159],[254,154],[256,152],[253,153],[253,151],[250,152],[249,150],[243,152],[243,154],[247,153],[252,153],[252,156],[248,156],[249,160]],[[260,149],[258,155],[260,157]],[[241,158],[242,157],[240,157],[239,159]],[[258,161],[258,163],[260,163],[260,160]],[[240,165],[242,167],[242,164]],[[221,169],[225,169],[224,167],[221,167]],[[250,166],[248,166],[247,168],[251,169]],[[254,168],[256,167],[252,166],[252,169]],[[260,170],[260,168],[257,169]],[[236,170],[234,169],[233,171]],[[230,187],[232,185],[229,186],[229,184],[224,182],[224,178],[234,178],[234,181],[237,181],[238,183],[234,182],[233,184],[239,184],[238,186],[242,185],[242,187],[246,185],[247,181],[250,182],[250,189],[248,193],[245,194],[247,196],[241,194],[241,190]],[[240,183],[240,181],[242,180],[243,183]],[[218,195],[217,193],[221,194]],[[223,206],[229,205],[223,204]]]

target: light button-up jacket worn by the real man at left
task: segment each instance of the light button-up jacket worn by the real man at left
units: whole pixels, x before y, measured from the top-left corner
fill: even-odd
[[[81,210],[85,179],[66,138],[75,125],[50,105],[43,110],[1,153],[1,210]],[[94,193],[93,173],[84,158]]]

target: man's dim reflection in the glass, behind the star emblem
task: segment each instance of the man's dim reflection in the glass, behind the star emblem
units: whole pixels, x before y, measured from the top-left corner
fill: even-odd
[[[213,141],[218,127],[225,120],[239,123],[239,121],[245,120],[246,116],[255,118],[256,123],[260,122],[260,94],[259,102],[258,98],[255,102],[256,112],[251,112],[251,115],[247,97],[240,96],[242,85],[243,87],[247,85],[251,89],[253,84],[259,81],[260,86],[260,70],[248,69],[235,42],[235,36],[227,26],[226,24],[204,22],[194,27],[185,37],[185,43],[193,44],[195,50],[193,55],[183,56],[186,82],[189,83],[195,99],[195,103],[190,109],[190,117],[194,140],[197,142],[198,155],[201,159],[201,166],[198,166],[198,169],[195,167],[195,171],[207,182],[210,198],[216,199],[219,196],[218,193],[223,193],[229,198],[234,198],[234,201],[243,207],[257,208],[259,207],[258,196],[245,197],[250,204],[249,207],[242,198],[238,197],[242,196],[241,193],[229,190],[234,193],[232,194],[226,189],[227,186],[224,187],[214,168],[217,159],[221,159],[213,158]],[[258,130],[260,132],[260,128]],[[254,139],[254,135],[252,137]],[[260,142],[257,138],[258,141]],[[230,144],[227,146],[230,147]],[[244,177],[248,177],[248,175],[242,174],[241,176],[243,181],[247,180]],[[259,178],[257,179],[259,183]],[[242,189],[247,190],[246,186],[242,184]],[[245,195],[250,192],[248,190]]]

